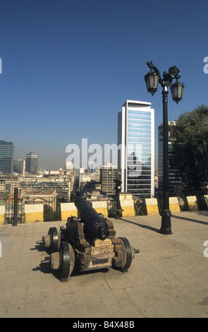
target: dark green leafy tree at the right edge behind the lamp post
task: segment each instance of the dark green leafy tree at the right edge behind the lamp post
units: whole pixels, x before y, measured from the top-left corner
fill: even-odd
[[[178,169],[187,191],[203,191],[208,182],[208,105],[185,112],[170,126],[171,167]]]

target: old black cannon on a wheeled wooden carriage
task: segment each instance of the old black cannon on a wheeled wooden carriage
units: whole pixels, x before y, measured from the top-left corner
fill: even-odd
[[[89,271],[114,267],[128,271],[135,253],[126,237],[116,238],[114,223],[97,213],[84,198],[75,198],[78,218],[68,217],[66,227],[49,229],[37,244],[49,250],[48,264],[59,272],[61,281],[68,280],[73,271]]]

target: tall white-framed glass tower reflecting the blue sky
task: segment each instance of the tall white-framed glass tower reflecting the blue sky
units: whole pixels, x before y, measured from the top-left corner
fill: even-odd
[[[126,100],[118,112],[118,172],[121,192],[141,198],[154,196],[154,109],[151,102]]]

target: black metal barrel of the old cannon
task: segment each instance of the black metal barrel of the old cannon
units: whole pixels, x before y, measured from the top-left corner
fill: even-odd
[[[109,228],[104,216],[99,215],[85,198],[75,198],[75,206],[78,209],[78,216],[84,224],[85,237],[90,240],[106,239]]]

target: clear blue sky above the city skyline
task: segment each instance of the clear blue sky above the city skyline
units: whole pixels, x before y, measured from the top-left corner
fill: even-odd
[[[185,85],[169,119],[208,104],[207,0],[0,0],[0,139],[15,158],[64,167],[66,146],[117,143],[117,114],[130,100],[152,102],[162,121],[161,87],[143,75],[176,65]]]

